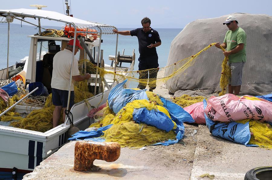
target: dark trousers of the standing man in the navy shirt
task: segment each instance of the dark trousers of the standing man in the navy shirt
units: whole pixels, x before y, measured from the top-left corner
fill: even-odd
[[[159,67],[158,55],[155,54],[149,57],[139,57],[139,89],[145,89],[148,80],[149,91],[153,91],[156,88],[156,79]],[[155,68],[155,69],[154,69]],[[149,77],[148,77],[149,73]]]

